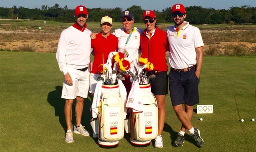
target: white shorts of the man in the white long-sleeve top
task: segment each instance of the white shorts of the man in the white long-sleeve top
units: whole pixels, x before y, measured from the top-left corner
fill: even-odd
[[[68,73],[72,78],[73,85],[70,86],[63,81],[62,95],[64,99],[75,99],[76,96],[87,98],[89,90],[90,72],[68,68]]]

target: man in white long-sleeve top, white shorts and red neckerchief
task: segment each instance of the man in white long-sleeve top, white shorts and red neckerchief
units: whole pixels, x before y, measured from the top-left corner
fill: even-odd
[[[67,133],[65,141],[74,142],[71,126],[72,104],[76,99],[76,124],[74,133],[89,136],[89,132],[82,126],[81,118],[84,107],[84,98],[89,90],[91,49],[91,31],[86,28],[88,13],[85,6],[77,6],[74,13],[75,23],[60,34],[56,58],[60,71],[64,74],[61,98],[66,99],[64,113]]]

